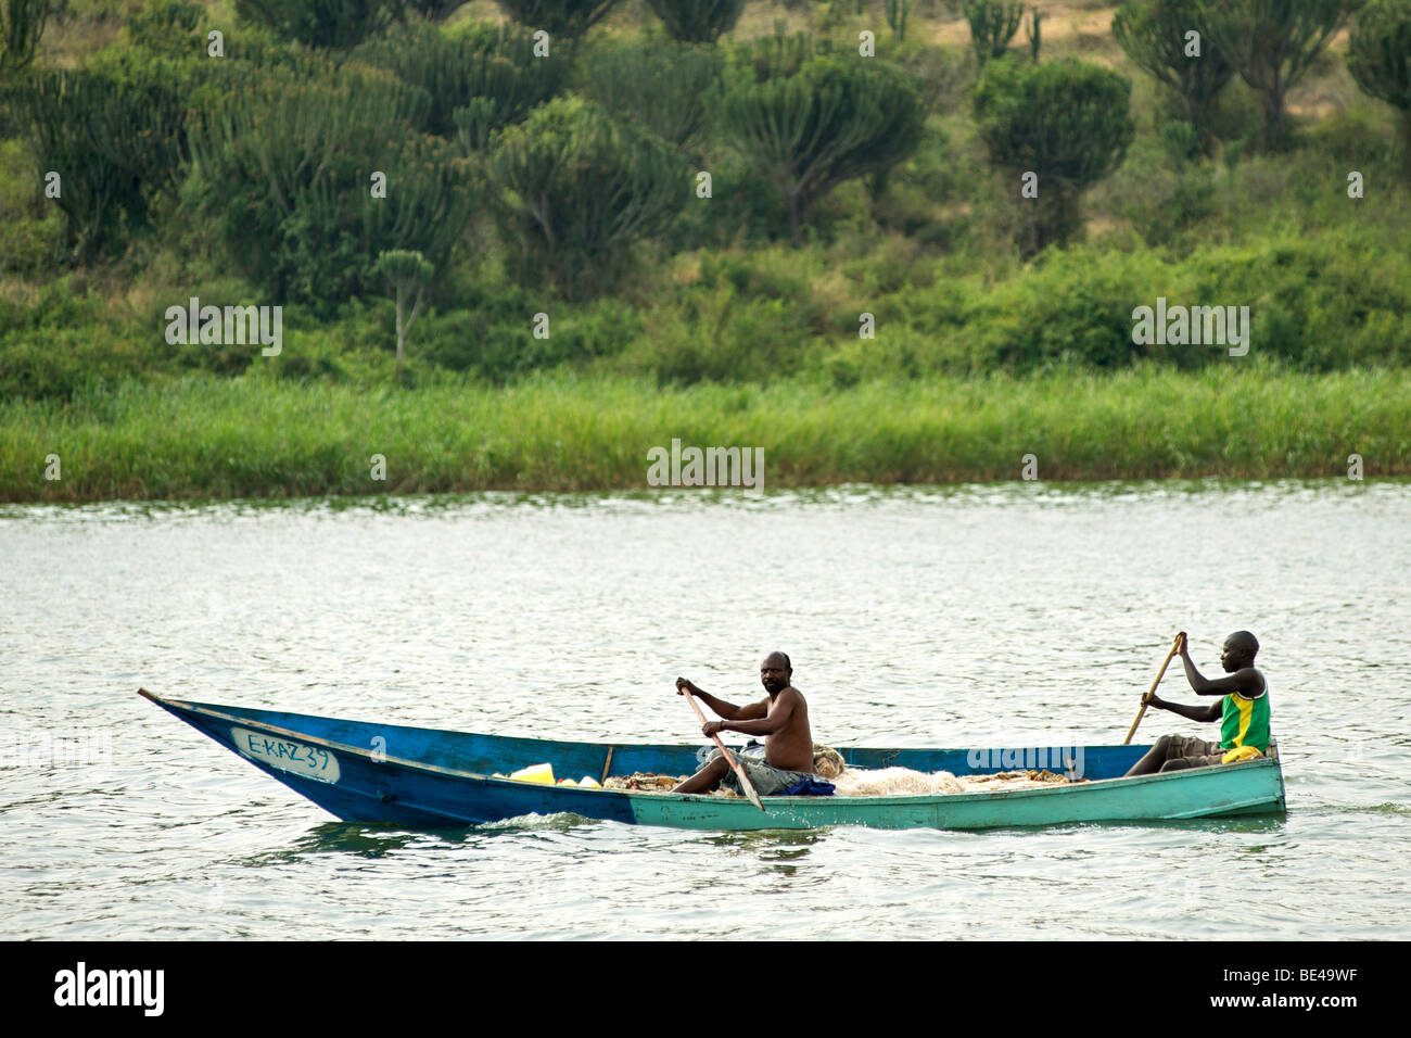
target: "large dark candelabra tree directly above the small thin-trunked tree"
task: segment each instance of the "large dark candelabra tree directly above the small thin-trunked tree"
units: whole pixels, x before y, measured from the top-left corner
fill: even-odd
[[[192,121],[186,201],[241,273],[278,301],[334,301],[381,291],[370,268],[382,251],[440,268],[478,199],[468,161],[411,129],[425,90],[317,59],[236,75]]]

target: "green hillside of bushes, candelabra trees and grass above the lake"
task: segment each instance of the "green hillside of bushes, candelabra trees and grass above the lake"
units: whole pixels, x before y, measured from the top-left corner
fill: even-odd
[[[1362,426],[1384,445],[1369,472],[1411,472],[1393,431],[1411,362],[1411,0],[0,0],[0,16],[11,500],[356,491],[326,465],[203,480],[181,452],[181,477],[155,483],[133,465],[82,489],[37,473],[61,431],[135,459],[134,401],[198,408],[198,439],[199,408],[258,411],[264,394],[350,414],[365,397],[430,429],[446,394],[557,405],[515,397],[525,380],[580,402],[597,386],[629,414],[656,393],[707,411],[715,387],[755,394],[745,411],[797,393],[820,436],[832,414],[831,435],[873,443],[847,463],[800,451],[801,482],[1002,477],[995,442],[952,438],[950,463],[917,465],[855,408],[920,408],[909,421],[931,429],[937,393],[1033,401],[1129,370],[1120,391],[1177,424],[1184,384],[1267,383],[1328,458],[1256,436],[1242,469],[1205,439],[1153,453],[1127,428],[1109,462],[1050,475],[1335,472],[1357,445],[1326,401],[1356,387],[1388,422]],[[192,299],[279,306],[282,342],[174,338],[169,311]],[[1134,340],[1136,308],[1158,299],[1247,308],[1247,353]],[[99,435],[110,421],[119,441]],[[1046,421],[1061,455],[1075,441]],[[669,432],[614,428],[612,458]],[[349,449],[365,467],[370,448]],[[406,486],[641,479],[457,458],[461,477],[418,467]]]

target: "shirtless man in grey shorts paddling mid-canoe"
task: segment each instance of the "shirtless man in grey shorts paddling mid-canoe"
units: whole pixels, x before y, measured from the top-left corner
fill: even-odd
[[[794,782],[813,775],[813,732],[809,729],[809,703],[790,682],[793,667],[783,652],[770,652],[759,665],[759,682],[769,693],[749,706],[735,706],[701,692],[686,678],[676,679],[676,695],[690,691],[724,720],[708,720],[701,727],[707,736],[717,732],[739,732],[765,737],[765,757],[735,753],[745,768],[755,792],[761,797],[779,795]],[[706,792],[717,785],[742,792],[734,770],[720,750],[706,761],[706,767],[677,785],[672,792]]]

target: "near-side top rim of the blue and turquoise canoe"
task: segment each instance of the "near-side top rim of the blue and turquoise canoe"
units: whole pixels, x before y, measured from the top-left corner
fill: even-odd
[[[670,801],[673,804],[732,805],[732,806],[722,808],[724,811],[737,811],[737,809],[739,809],[738,806],[734,806],[734,805],[749,808],[751,813],[758,809],[758,808],[755,808],[749,802],[749,799],[746,799],[744,797],[710,797],[710,795],[700,795],[700,794],[673,794],[673,792],[655,792],[653,794],[653,792],[642,792],[639,789],[608,789],[605,787],[594,788],[594,787],[586,787],[586,785],[557,785],[557,784],[549,785],[546,782],[525,782],[522,780],[508,778],[508,777],[507,778],[495,778],[494,775],[484,775],[484,774],[481,774],[478,771],[464,771],[464,770],[459,770],[459,768],[447,768],[447,767],[443,767],[440,764],[428,764],[425,761],[413,761],[413,760],[408,760],[405,757],[392,757],[391,754],[387,754],[387,753],[381,753],[378,756],[378,754],[374,754],[370,750],[364,750],[364,748],[357,747],[357,746],[349,746],[346,743],[336,743],[332,739],[323,739],[322,736],[313,736],[313,734],[306,734],[303,732],[295,732],[293,729],[281,727],[279,724],[271,724],[268,722],[255,720],[253,717],[231,716],[229,713],[222,713],[220,710],[213,710],[209,706],[196,706],[195,703],[189,703],[189,702],[185,702],[185,700],[181,700],[181,699],[165,699],[165,698],[158,696],[158,695],[155,695],[152,692],[148,692],[147,689],[138,689],[137,692],[138,692],[138,695],[150,699],[151,702],[157,703],[158,706],[175,706],[175,708],[182,709],[182,710],[189,710],[190,713],[196,713],[196,715],[202,715],[202,716],[207,716],[207,717],[216,717],[216,719],[220,719],[220,720],[224,720],[224,722],[230,722],[230,723],[234,723],[234,724],[250,724],[250,726],[254,726],[254,727],[261,727],[261,729],[265,729],[268,732],[285,736],[288,739],[302,740],[302,741],[306,741],[306,743],[315,743],[317,746],[323,746],[323,747],[327,747],[330,750],[337,750],[339,753],[353,754],[354,757],[361,757],[363,760],[368,760],[368,761],[371,761],[374,764],[396,764],[399,767],[409,768],[412,771],[428,771],[428,772],[433,772],[433,774],[449,775],[452,778],[468,778],[468,780],[474,780],[474,781],[480,781],[480,782],[508,784],[508,785],[511,785],[514,788],[539,787],[542,789],[553,789],[555,792],[567,794],[567,795],[574,795],[574,794],[602,795],[602,794],[607,794],[610,797],[626,797],[629,799],[631,798],[642,798],[642,799],[649,799],[649,801],[660,801],[660,799],[670,798]],[[312,715],[309,715],[309,716],[312,716]],[[340,719],[327,719],[327,720],[340,720]],[[351,722],[351,723],[365,724],[365,723],[370,723],[370,722]],[[392,726],[392,727],[406,727],[406,726]],[[456,734],[471,734],[471,733],[456,733]],[[533,740],[533,741],[557,741],[557,740]],[[579,743],[579,744],[580,746],[604,746],[604,747],[622,746],[622,743]],[[906,748],[906,747],[902,747],[902,748]],[[916,747],[916,748],[945,748],[945,747]],[[253,757],[248,757],[247,754],[240,753],[238,750],[236,753],[240,757],[246,757],[246,760],[250,760],[253,763],[258,763]],[[1043,797],[1043,795],[1055,795],[1055,794],[1072,794],[1072,792],[1079,791],[1079,789],[1098,788],[1098,787],[1105,785],[1108,782],[1123,782],[1126,785],[1146,785],[1146,784],[1150,784],[1150,782],[1154,782],[1154,781],[1158,782],[1158,781],[1181,780],[1181,778],[1189,777],[1191,772],[1213,771],[1216,768],[1221,772],[1226,772],[1228,774],[1229,771],[1236,770],[1236,768],[1250,770],[1250,768],[1260,768],[1260,767],[1273,767],[1276,770],[1276,772],[1278,774],[1278,780],[1280,780],[1280,797],[1278,797],[1278,799],[1277,801],[1271,801],[1268,798],[1259,798],[1259,799],[1254,799],[1254,801],[1240,802],[1240,804],[1236,804],[1233,806],[1236,806],[1236,808],[1239,808],[1239,806],[1253,806],[1253,805],[1257,805],[1257,804],[1273,804],[1273,802],[1283,804],[1284,802],[1284,797],[1283,797],[1283,767],[1280,767],[1277,757],[1257,757],[1254,760],[1236,761],[1236,763],[1232,763],[1232,764],[1208,764],[1208,765],[1199,767],[1199,768],[1182,768],[1180,771],[1154,772],[1154,774],[1150,774],[1150,775],[1133,775],[1130,780],[1127,777],[1125,777],[1125,775],[1116,775],[1113,778],[1092,778],[1092,780],[1085,780],[1085,781],[1079,781],[1079,782],[1064,782],[1064,784],[1053,782],[1053,784],[1046,784],[1047,788],[1044,788],[1044,787],[1030,787],[1030,788],[1022,788],[1022,789],[993,789],[993,791],[976,789],[976,791],[971,791],[971,792],[904,794],[904,795],[900,795],[900,797],[888,797],[888,795],[878,795],[878,797],[841,797],[841,795],[834,794],[831,797],[766,797],[763,799],[768,799],[768,801],[770,801],[773,804],[777,804],[780,808],[785,808],[785,806],[803,806],[803,805],[809,805],[809,804],[818,804],[821,801],[827,801],[828,804],[844,805],[844,806],[854,806],[854,805],[864,805],[864,804],[886,804],[886,805],[903,806],[903,805],[910,805],[910,804],[933,804],[933,802],[937,802],[937,801],[954,802],[957,799],[986,799],[986,801],[993,801],[993,799],[1012,799],[1012,798],[1016,798],[1016,797],[1017,798],[1024,798],[1024,797],[1034,797],[1034,795]],[[866,768],[864,768],[864,770],[866,770]]]

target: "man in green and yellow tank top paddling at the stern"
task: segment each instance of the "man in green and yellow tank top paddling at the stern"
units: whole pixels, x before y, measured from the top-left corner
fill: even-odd
[[[1199,696],[1223,696],[1212,706],[1182,706],[1168,703],[1156,692],[1147,692],[1141,702],[1188,720],[1221,722],[1221,741],[1208,743],[1189,736],[1161,736],[1147,754],[1132,765],[1126,777],[1150,775],[1156,771],[1204,768],[1211,764],[1232,764],[1261,757],[1268,751],[1268,685],[1254,669],[1259,641],[1249,631],[1235,631],[1225,638],[1221,665],[1228,678],[1213,681],[1201,676],[1187,651],[1185,631],[1181,631],[1181,664],[1185,678]]]

